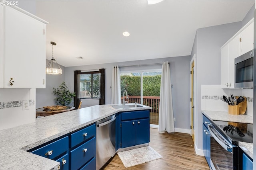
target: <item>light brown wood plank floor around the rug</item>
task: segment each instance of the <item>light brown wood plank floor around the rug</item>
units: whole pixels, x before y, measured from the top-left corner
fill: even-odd
[[[189,134],[164,133],[150,128],[149,145],[164,158],[125,168],[118,154],[102,170],[209,170],[206,159],[198,156]]]

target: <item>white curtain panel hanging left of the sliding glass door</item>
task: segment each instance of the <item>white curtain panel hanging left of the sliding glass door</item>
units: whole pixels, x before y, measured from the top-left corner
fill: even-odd
[[[112,69],[111,104],[121,104],[121,86],[120,86],[119,66],[113,66],[113,69]]]

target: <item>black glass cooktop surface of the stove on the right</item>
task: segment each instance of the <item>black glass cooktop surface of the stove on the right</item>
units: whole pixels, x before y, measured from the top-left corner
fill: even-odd
[[[238,142],[253,143],[253,124],[228,121],[213,121],[213,123],[233,145],[238,145]]]

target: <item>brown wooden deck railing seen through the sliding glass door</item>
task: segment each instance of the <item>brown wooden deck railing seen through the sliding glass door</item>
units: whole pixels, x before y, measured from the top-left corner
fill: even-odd
[[[126,98],[126,96],[124,98]],[[143,96],[142,103],[140,102],[140,96],[128,96],[128,98],[129,98],[128,103],[137,102],[138,104],[144,104],[146,106],[152,107],[150,112],[159,113],[159,101],[160,101],[159,96]],[[121,99],[123,99],[123,97],[121,97]]]

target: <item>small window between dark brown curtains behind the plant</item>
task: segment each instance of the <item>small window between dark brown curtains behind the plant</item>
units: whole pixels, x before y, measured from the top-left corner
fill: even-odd
[[[81,72],[80,74],[80,98],[100,98],[100,72]]]

